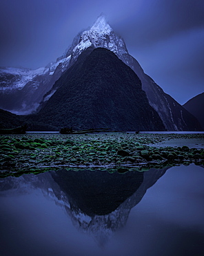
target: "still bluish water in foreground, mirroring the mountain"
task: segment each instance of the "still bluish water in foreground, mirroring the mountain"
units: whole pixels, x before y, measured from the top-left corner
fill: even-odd
[[[0,179],[0,255],[204,255],[203,184],[194,164]]]

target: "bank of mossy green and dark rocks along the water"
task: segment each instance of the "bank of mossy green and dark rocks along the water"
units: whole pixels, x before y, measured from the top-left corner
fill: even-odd
[[[165,146],[171,141],[182,146]],[[190,141],[196,141],[190,147]],[[26,134],[0,136],[0,177],[79,168],[108,172],[204,164],[204,134]]]

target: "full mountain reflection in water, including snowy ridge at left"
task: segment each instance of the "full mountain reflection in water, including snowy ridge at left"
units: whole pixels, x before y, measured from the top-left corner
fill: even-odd
[[[89,232],[103,246],[113,231],[125,225],[131,208],[167,169],[124,174],[99,170],[24,174],[1,180],[1,191],[13,189],[15,194],[21,194],[41,188],[46,196],[63,205],[74,226]]]

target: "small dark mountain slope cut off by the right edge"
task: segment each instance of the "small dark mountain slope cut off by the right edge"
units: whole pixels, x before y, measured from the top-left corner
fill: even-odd
[[[194,98],[188,100],[183,104],[183,107],[198,119],[204,130],[204,93],[200,93]]]

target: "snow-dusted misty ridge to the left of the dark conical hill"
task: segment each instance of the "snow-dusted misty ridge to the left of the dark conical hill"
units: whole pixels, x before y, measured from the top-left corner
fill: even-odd
[[[69,62],[70,57],[64,57],[36,70],[0,68],[0,108],[21,115],[36,111]]]

